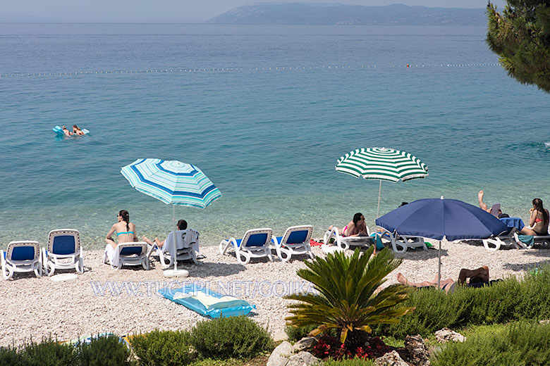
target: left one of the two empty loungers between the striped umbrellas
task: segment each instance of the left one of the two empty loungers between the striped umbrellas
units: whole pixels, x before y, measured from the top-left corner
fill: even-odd
[[[219,244],[219,252],[226,254],[229,247],[233,246],[237,260],[240,264],[246,265],[250,262],[250,258],[267,257],[273,262],[271,255],[271,236],[273,230],[251,229],[245,232],[243,239],[235,239],[233,237],[222,240]]]

